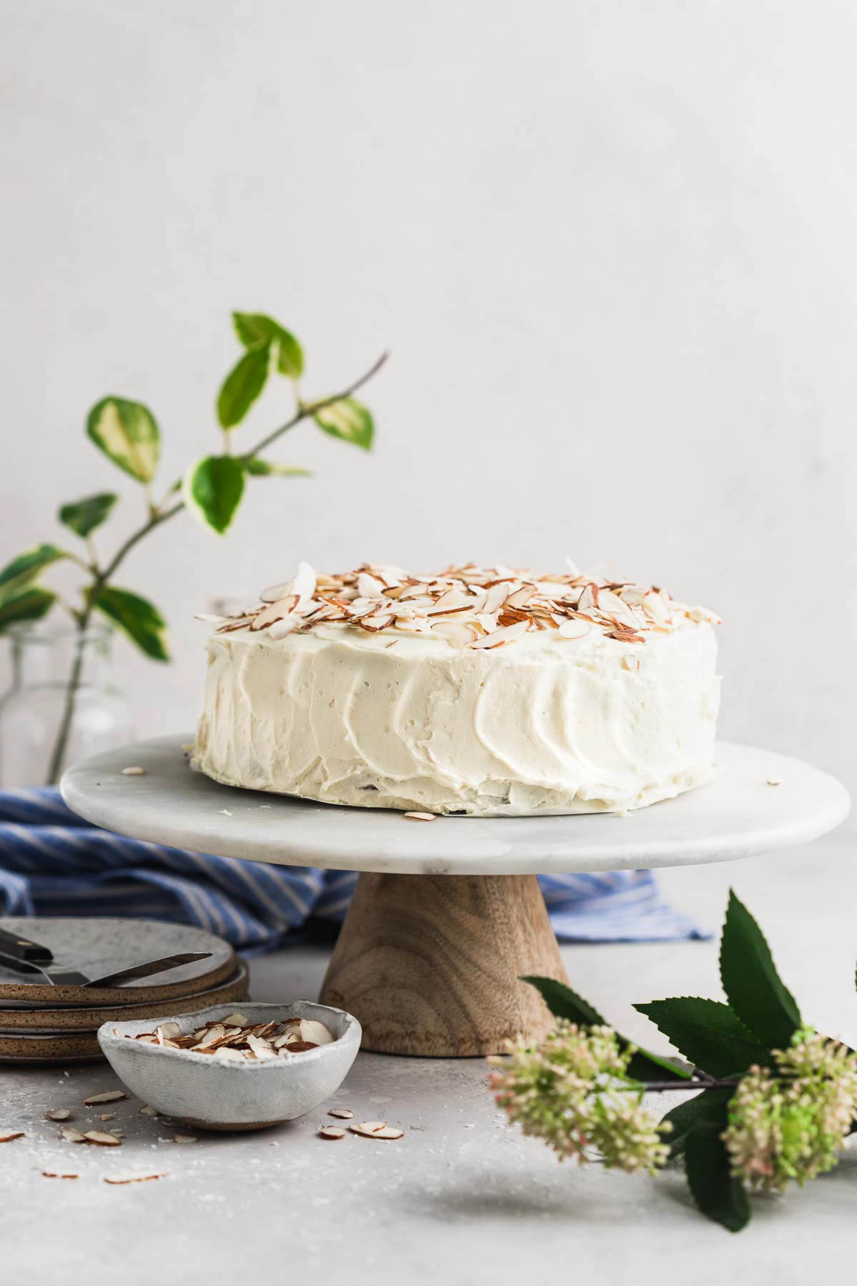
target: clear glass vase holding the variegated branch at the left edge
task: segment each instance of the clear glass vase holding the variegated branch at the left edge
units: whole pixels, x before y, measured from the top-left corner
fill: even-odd
[[[53,786],[69,764],[132,739],[110,683],[108,625],[13,625],[12,687],[0,700],[0,787]]]

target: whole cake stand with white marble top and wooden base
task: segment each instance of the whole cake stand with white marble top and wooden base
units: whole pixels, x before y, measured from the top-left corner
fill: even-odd
[[[360,871],[321,988],[383,1053],[496,1053],[551,1025],[541,974],[565,980],[536,876],[730,862],[803,844],[848,813],[833,777],[771,751],[718,745],[714,779],[628,817],[438,817],[337,808],[220,786],[185,737],[71,768],[68,806],[121,835],[253,862]],[[144,775],[122,768],[140,765]],[[777,784],[771,784],[777,783]]]

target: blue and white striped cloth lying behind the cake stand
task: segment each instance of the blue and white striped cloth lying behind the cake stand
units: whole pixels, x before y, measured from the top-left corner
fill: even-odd
[[[243,950],[280,945],[310,917],[340,923],[356,874],[275,867],[128,840],[90,826],[59,791],[0,791],[0,910],[177,921]],[[650,871],[540,876],[564,941],[705,937],[662,899]]]

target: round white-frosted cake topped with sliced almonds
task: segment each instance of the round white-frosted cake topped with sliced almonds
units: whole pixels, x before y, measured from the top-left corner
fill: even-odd
[[[284,607],[279,617],[265,608],[262,628],[251,628],[254,613],[217,622],[195,766],[329,804],[475,814],[627,811],[709,778],[720,696],[711,613],[576,572],[393,571],[328,585],[303,574],[276,586]],[[441,599],[450,580],[465,601],[473,590],[473,610]],[[477,608],[491,581],[524,607],[486,619]],[[347,611],[374,595],[374,615],[388,616],[398,599],[385,592],[401,598],[411,585],[427,628],[403,615],[366,629]],[[314,620],[325,603],[343,606]],[[278,637],[284,613],[297,625]],[[436,628],[451,622],[457,631]]]

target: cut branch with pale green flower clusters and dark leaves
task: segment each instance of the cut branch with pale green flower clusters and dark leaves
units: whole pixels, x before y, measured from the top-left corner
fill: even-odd
[[[636,1006],[690,1066],[637,1049],[570,988],[524,979],[556,1016],[556,1030],[537,1047],[506,1042],[506,1053],[488,1060],[497,1105],[560,1160],[657,1174],[684,1156],[702,1213],[740,1231],[749,1191],[784,1192],[790,1181],[803,1186],[836,1165],[857,1129],[857,1053],[806,1026],[735,894],[721,979],[727,1004],[676,997]],[[704,1066],[694,1066],[698,1060]],[[645,1094],[676,1089],[695,1097],[663,1120],[642,1106]]]

